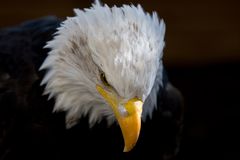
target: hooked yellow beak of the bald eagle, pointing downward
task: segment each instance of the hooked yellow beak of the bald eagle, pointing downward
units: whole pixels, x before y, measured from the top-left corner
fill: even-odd
[[[121,127],[124,138],[124,152],[130,151],[137,143],[141,129],[141,114],[143,102],[137,98],[132,98],[128,102],[121,104],[120,100],[111,93],[108,93],[101,86],[96,86],[98,92],[112,107],[116,119]],[[124,110],[124,113],[121,113]]]

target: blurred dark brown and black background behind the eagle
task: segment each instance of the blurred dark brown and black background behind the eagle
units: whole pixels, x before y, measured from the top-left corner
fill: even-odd
[[[80,0],[1,0],[0,27],[46,15],[73,16]],[[238,0],[105,0],[141,4],[167,26],[164,63],[185,99],[181,159],[238,159],[240,3]]]

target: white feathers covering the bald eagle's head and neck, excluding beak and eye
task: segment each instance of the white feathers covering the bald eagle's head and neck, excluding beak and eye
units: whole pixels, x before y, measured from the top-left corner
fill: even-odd
[[[67,127],[86,114],[90,125],[103,117],[111,124],[112,109],[96,90],[96,85],[104,87],[104,72],[111,92],[142,99],[143,116],[151,115],[162,83],[164,22],[140,5],[110,8],[97,1],[74,11],[76,16],[67,18],[46,45],[51,51],[40,68],[47,69],[42,84],[45,94],[56,99],[54,110],[67,111]]]

